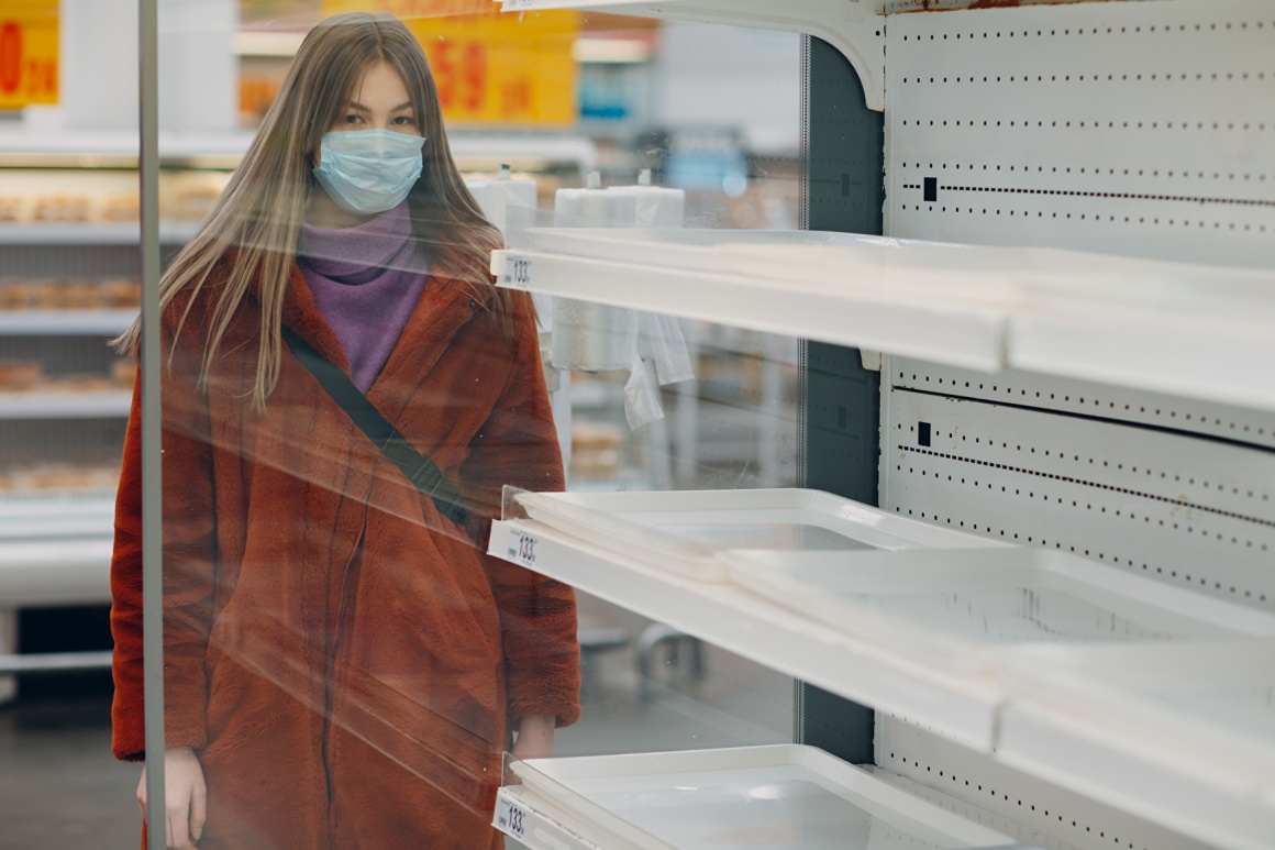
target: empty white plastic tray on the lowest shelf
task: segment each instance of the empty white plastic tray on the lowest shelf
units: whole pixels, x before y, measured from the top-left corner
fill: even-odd
[[[796,744],[532,759],[510,768],[537,794],[602,821],[644,850],[937,850],[1012,844]],[[580,810],[580,809],[576,809]]]

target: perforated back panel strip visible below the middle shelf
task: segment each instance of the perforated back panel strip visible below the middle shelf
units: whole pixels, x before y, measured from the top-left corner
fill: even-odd
[[[1042,850],[1202,850],[1207,845],[1006,768],[915,726],[877,716],[877,766],[1006,818],[992,824]],[[964,812],[963,812],[964,814]],[[1016,824],[1017,828],[1014,828]]]

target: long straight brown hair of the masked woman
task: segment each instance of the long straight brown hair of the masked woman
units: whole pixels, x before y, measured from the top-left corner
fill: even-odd
[[[506,334],[511,333],[510,292],[493,287],[488,274],[491,250],[502,244],[500,231],[483,217],[456,170],[442,125],[439,89],[421,45],[393,15],[363,11],[334,15],[301,42],[278,97],[226,191],[159,281],[161,311],[178,295],[190,296],[177,324],[180,333],[213,269],[233,253],[209,322],[200,371],[203,385],[222,338],[252,281],[258,281],[260,333],[252,407],[259,412],[265,410],[265,401],[279,380],[283,300],[309,193],[323,191],[311,175],[312,152],[319,149],[323,134],[339,117],[363,73],[380,61],[402,75],[416,108],[417,126],[427,139],[421,177],[409,195],[414,237],[427,245],[433,268],[445,269],[469,286],[479,302],[491,296]],[[115,343],[136,357],[140,319]]]

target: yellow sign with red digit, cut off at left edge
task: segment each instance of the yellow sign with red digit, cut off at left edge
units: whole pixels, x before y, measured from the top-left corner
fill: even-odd
[[[0,4],[0,110],[57,102],[57,0]]]

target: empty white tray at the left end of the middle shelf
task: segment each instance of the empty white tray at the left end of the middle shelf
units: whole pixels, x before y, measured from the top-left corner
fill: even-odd
[[[612,551],[703,581],[727,578],[720,553],[974,549],[949,531],[819,490],[519,493],[533,519]]]

